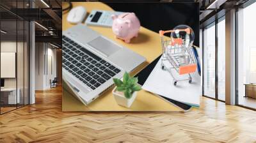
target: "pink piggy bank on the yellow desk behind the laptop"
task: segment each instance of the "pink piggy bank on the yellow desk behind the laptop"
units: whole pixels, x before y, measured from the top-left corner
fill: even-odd
[[[112,30],[116,38],[124,40],[125,43],[130,43],[131,38],[138,36],[140,20],[134,13],[111,15],[111,17],[113,19]]]

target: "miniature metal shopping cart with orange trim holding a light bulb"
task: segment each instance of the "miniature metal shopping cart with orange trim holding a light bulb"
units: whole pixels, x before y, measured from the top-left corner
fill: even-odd
[[[189,28],[159,31],[163,49],[161,68],[172,75],[174,86],[180,80],[189,80],[190,84],[192,82],[190,73],[196,71],[196,59],[192,47],[193,40],[189,36],[191,32],[193,31]],[[165,33],[171,33],[170,39],[164,40],[166,38]],[[184,74],[188,74],[189,77],[181,78]]]

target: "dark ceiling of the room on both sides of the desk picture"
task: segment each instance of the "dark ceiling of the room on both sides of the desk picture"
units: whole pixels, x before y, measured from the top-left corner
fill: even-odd
[[[65,0],[63,0],[65,1]],[[68,1],[68,0],[66,0]],[[72,0],[70,0],[72,1]],[[106,1],[106,0],[105,0]],[[115,0],[112,0],[115,1]],[[148,0],[157,1],[157,0]],[[161,0],[172,3],[199,3],[200,25],[211,23],[216,13],[239,6],[248,0]],[[31,8],[33,7],[33,8]],[[224,10],[224,11],[223,11]],[[61,45],[61,0],[0,0],[1,29],[7,31],[5,36],[23,33],[21,22],[16,20],[35,20],[36,41],[56,42]],[[218,15],[221,16],[221,15]],[[40,25],[41,26],[40,26]],[[43,26],[43,27],[42,27]],[[46,29],[45,29],[45,28]]]

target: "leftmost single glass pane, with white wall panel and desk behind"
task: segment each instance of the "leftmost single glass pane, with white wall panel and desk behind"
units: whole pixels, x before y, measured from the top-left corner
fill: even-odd
[[[1,113],[17,108],[17,21],[1,21]],[[3,32],[4,31],[4,32]]]

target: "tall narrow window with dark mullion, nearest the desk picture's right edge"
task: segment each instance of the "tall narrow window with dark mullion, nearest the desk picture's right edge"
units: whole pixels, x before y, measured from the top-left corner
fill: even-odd
[[[225,101],[225,15],[204,28],[204,96]],[[216,79],[217,78],[217,79]]]

